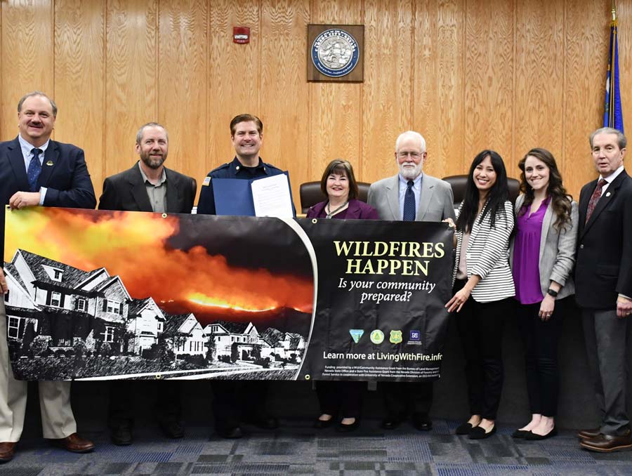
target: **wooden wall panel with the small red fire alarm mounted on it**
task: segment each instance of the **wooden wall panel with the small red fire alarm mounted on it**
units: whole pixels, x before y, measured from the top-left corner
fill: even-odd
[[[258,1],[211,1],[209,8],[209,156],[204,175],[235,157],[230,142],[230,120],[237,114],[261,115]],[[250,43],[234,43],[232,27],[250,27]],[[268,124],[264,125],[267,133]]]

